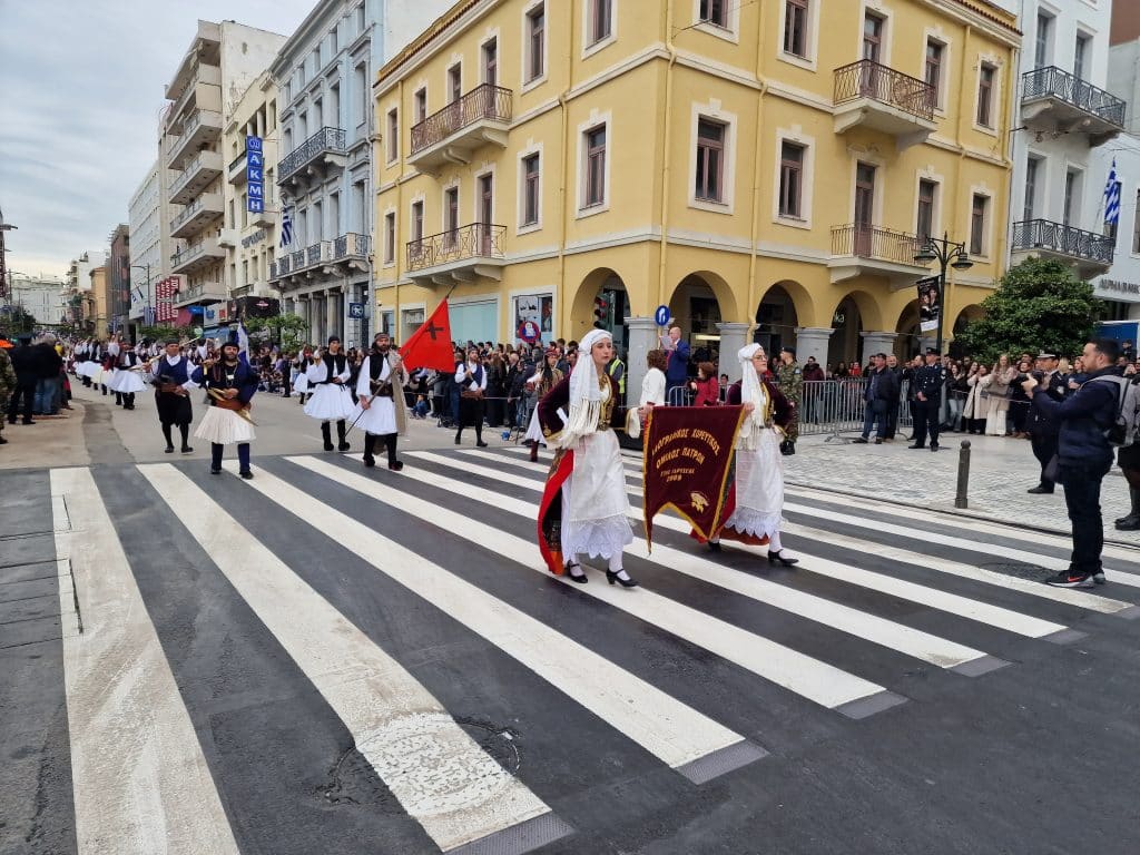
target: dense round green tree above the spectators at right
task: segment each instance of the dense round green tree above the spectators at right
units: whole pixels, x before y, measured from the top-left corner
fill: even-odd
[[[993,363],[1001,353],[1080,353],[1105,307],[1066,264],[1027,259],[1005,272],[982,308],[985,315],[969,321],[954,343]]]

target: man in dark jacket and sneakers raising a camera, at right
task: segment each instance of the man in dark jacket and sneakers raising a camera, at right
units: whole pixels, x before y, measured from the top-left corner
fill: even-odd
[[[1068,570],[1045,580],[1061,588],[1091,588],[1104,584],[1100,553],[1105,528],[1100,519],[1100,482],[1113,467],[1113,447],[1105,432],[1116,422],[1119,345],[1098,339],[1084,345],[1085,381],[1064,401],[1053,400],[1036,380],[1021,388],[1057,426],[1058,481],[1065,486],[1065,505],[1073,523],[1073,557]],[[1108,380],[1099,380],[1107,377]],[[1099,381],[1099,382],[1098,382]]]

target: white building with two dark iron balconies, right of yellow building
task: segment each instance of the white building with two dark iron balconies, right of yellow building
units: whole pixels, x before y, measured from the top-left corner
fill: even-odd
[[[1053,258],[1082,278],[1113,263],[1104,233],[1108,169],[1094,152],[1124,129],[1124,100],[1105,89],[1112,0],[1025,0],[1013,133],[1011,261]]]

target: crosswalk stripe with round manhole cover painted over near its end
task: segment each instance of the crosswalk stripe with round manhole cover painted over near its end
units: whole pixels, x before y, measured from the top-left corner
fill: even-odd
[[[549,813],[399,662],[170,464],[139,466],[443,850]],[[434,757],[421,750],[425,734]]]

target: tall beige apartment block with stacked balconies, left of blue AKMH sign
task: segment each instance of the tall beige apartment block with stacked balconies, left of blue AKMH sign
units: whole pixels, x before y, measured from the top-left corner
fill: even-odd
[[[226,178],[222,132],[242,93],[284,43],[284,35],[233,21],[198,21],[189,50],[166,85],[171,105],[160,142],[161,180],[169,182],[174,210],[170,272],[185,277],[174,300],[180,324],[199,325],[205,306],[228,299],[233,283],[227,282],[221,237],[234,186]]]

